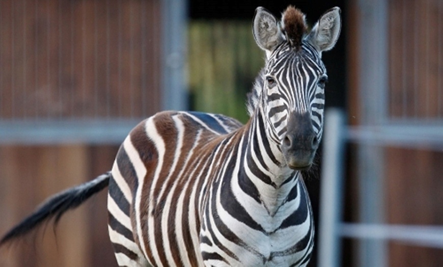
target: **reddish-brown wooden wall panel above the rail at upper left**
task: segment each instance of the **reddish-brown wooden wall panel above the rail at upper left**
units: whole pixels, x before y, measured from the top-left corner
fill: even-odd
[[[0,2],[0,119],[160,109],[160,1]]]

